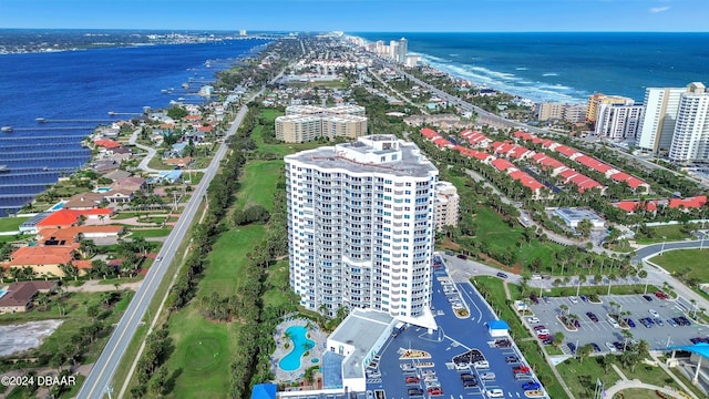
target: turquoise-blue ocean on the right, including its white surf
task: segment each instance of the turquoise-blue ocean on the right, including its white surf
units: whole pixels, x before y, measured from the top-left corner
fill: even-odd
[[[709,83],[709,33],[350,33],[405,37],[431,66],[534,101],[583,102],[596,92],[641,102],[646,88]]]

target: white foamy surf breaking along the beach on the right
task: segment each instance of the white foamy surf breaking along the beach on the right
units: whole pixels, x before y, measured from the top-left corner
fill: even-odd
[[[485,85],[533,101],[583,102],[589,95],[559,83],[530,81],[514,73],[493,71],[479,65],[441,62],[435,57],[423,57],[424,62],[445,73],[463,78],[479,85]]]

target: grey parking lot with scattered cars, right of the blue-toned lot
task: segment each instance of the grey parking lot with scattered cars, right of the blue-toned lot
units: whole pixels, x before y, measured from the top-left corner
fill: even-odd
[[[643,295],[610,295],[602,296],[602,304],[593,304],[582,300],[577,297],[543,297],[538,299],[538,304],[531,304],[534,316],[538,318],[538,323],[530,323],[530,318],[525,318],[525,323],[531,327],[545,326],[552,335],[561,331],[564,334],[565,344],[562,349],[565,354],[571,355],[568,342],[575,347],[586,344],[597,344],[602,352],[610,349],[606,342],[624,341],[625,337],[621,329],[614,327],[607,315],[619,308],[619,311],[628,313],[624,318],[629,318],[635,327],[627,328],[634,340],[646,340],[650,349],[664,349],[672,345],[690,345],[690,339],[696,337],[708,338],[709,328],[695,324],[681,326],[672,321],[672,318],[685,316],[686,310],[680,303],[675,300],[661,299],[649,293],[648,300]],[[612,303],[617,304],[614,308]],[[567,315],[578,316],[579,327],[576,331],[566,329],[556,318],[562,313],[562,305],[566,305]],[[594,321],[590,314],[598,319]],[[647,319],[653,323],[648,323]],[[644,320],[641,320],[644,319]],[[658,320],[659,319],[659,320]],[[534,320],[536,321],[536,320]],[[672,324],[675,326],[672,326]]]

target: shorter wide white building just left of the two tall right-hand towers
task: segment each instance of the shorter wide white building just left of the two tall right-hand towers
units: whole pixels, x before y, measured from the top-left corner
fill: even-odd
[[[641,104],[600,104],[594,134],[598,137],[635,142],[644,112],[645,106]]]

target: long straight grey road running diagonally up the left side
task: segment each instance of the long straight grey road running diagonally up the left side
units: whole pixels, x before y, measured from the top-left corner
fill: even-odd
[[[227,131],[227,137],[236,132],[247,111],[246,106],[243,106],[239,110],[236,119],[232,123],[232,126]],[[125,314],[123,314],[123,317],[113,330],[109,342],[101,352],[99,360],[96,360],[95,366],[91,369],[84,385],[81,387],[78,395],[79,398],[103,398],[104,395],[107,395],[109,390],[112,389],[110,385],[113,375],[117,369],[125,350],[131,344],[131,340],[133,340],[133,336],[135,335],[148,305],[153,300],[155,291],[161,285],[168,265],[173,262],[175,252],[187,233],[189,225],[197,213],[199,203],[203,201],[207,187],[209,186],[212,178],[216,175],[226,152],[226,144],[219,146],[219,150],[217,150],[209,167],[205,170],[204,177],[193,192],[189,202],[185,206],[185,211],[177,221],[173,231],[169,233],[169,236],[167,236],[165,244],[157,255],[158,258],[162,257],[162,260],[155,262],[153,267],[150,268],[141,288],[135,293],[135,297],[131,300]]]

